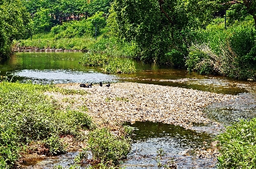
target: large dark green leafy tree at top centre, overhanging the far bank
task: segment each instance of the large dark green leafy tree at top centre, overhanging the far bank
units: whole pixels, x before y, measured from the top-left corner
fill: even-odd
[[[213,11],[215,1],[115,0],[108,25],[136,43],[142,61],[183,67],[193,30],[205,27]]]

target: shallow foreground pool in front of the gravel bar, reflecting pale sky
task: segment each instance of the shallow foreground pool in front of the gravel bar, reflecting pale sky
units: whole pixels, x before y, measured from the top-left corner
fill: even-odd
[[[132,151],[122,164],[125,168],[158,168],[156,156],[160,149],[166,153],[162,157],[163,164],[173,160],[177,168],[216,168],[215,159],[198,159],[179,154],[188,148],[209,148],[213,135],[163,123],[136,122],[126,125],[136,130],[132,137]]]

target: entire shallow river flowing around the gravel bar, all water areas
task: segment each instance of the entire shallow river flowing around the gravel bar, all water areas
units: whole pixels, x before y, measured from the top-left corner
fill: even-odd
[[[107,75],[100,68],[85,67],[79,64],[82,53],[18,53],[0,64],[1,76],[12,80],[37,84],[58,83],[116,83],[131,81],[157,85],[178,86],[221,94],[240,95],[243,99],[214,103],[205,107],[209,118],[230,125],[238,119],[256,116],[256,84],[254,81],[241,81],[221,76],[203,76],[186,70],[159,67],[154,64],[135,62],[136,73],[131,75]],[[136,122],[127,123],[136,128],[131,153],[122,166],[125,168],[158,168],[157,151],[162,149],[165,156],[161,162],[174,161],[178,168],[216,168],[216,159],[200,159],[192,155],[184,156],[187,149],[209,148],[216,136],[214,126],[195,124],[193,130],[175,125]],[[70,152],[58,157],[48,157],[43,161],[27,163],[27,168],[35,165],[52,168],[58,164],[69,166],[78,152]]]

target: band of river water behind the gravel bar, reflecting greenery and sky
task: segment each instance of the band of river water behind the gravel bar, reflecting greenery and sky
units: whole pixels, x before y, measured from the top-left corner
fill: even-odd
[[[159,67],[156,64],[135,62],[136,73],[106,75],[99,67],[79,64],[82,53],[18,53],[0,64],[1,75],[15,76],[14,80],[32,80],[35,83],[99,83],[132,81],[137,83],[178,86],[222,94],[247,92],[238,81],[221,76],[203,76],[186,70]],[[124,59],[125,60],[125,59]]]

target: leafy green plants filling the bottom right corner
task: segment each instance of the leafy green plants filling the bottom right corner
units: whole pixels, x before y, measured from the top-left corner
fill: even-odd
[[[217,137],[220,141],[218,168],[256,168],[256,119],[241,120]]]

